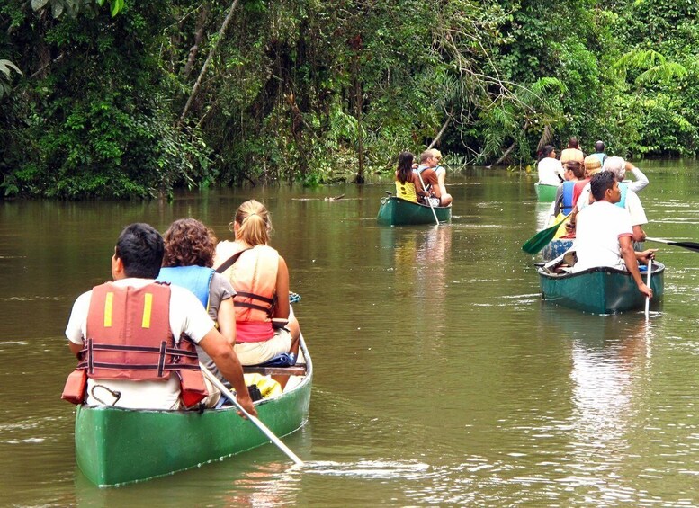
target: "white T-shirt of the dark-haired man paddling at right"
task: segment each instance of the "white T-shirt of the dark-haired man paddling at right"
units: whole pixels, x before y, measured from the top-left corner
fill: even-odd
[[[578,263],[573,272],[596,266],[623,270],[619,238],[633,236],[631,216],[609,201],[595,201],[578,213],[575,245]]]

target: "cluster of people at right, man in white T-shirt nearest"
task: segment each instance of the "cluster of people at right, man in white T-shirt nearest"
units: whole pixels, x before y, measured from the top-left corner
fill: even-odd
[[[562,221],[556,237],[573,239],[569,252],[547,267],[570,272],[599,266],[627,270],[641,293],[652,298],[639,263],[648,264],[656,249],[636,252],[633,245],[646,237],[643,225],[648,219],[637,194],[649,183],[645,174],[622,157],[607,156],[603,141],[585,156],[577,138],[570,138],[560,159],[554,147],[544,147],[537,167],[539,183],[558,186],[550,221]],[[634,180],[626,180],[627,174]]]

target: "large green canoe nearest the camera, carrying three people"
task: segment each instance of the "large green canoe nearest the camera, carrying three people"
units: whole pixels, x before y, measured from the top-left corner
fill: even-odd
[[[255,402],[259,419],[278,437],[300,429],[308,419],[312,364],[303,343],[302,351],[300,363],[294,367],[246,368],[300,374],[298,385],[279,396]],[[291,378],[289,385],[294,380]],[[253,423],[237,415],[234,406],[201,413],[77,407],[77,465],[97,486],[162,477],[267,442]]]

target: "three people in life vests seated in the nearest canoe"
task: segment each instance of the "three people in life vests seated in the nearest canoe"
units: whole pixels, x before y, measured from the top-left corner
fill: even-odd
[[[229,229],[233,241],[218,244],[193,218],[175,220],[165,237],[143,223],[121,231],[112,281],[78,297],[68,320],[78,365],[64,398],[130,409],[220,406],[202,362],[256,414],[242,365],[298,355],[300,328],[287,265],[269,245],[267,209],[246,201]]]

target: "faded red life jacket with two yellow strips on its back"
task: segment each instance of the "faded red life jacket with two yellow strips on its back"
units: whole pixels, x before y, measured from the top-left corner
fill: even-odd
[[[87,338],[76,370],[88,378],[166,381],[180,379],[185,407],[208,395],[194,343],[186,336],[175,344],[170,330],[170,287],[142,288],[107,282],[93,289],[87,315]],[[84,375],[85,375],[84,374]],[[69,379],[70,380],[70,379]],[[79,389],[80,383],[73,383]],[[63,398],[79,403],[85,393]],[[77,400],[77,402],[76,402]]]

